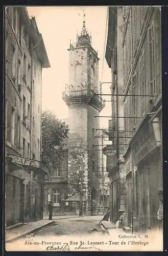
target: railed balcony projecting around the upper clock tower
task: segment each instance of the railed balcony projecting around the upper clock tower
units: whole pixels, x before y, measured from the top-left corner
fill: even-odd
[[[62,93],[62,99],[67,104],[86,103],[93,106],[101,112],[105,106],[105,100],[91,89],[84,90],[66,90]]]

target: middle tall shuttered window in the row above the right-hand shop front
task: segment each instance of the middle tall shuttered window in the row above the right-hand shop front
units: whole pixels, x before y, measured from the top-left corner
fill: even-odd
[[[142,52],[139,60],[139,87],[140,87],[140,115],[142,116],[145,111],[145,66],[144,66],[144,53]]]

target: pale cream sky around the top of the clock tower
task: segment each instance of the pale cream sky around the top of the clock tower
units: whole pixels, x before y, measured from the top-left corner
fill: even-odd
[[[99,81],[110,82],[111,73],[105,59],[107,37],[107,6],[45,6],[27,7],[35,16],[42,34],[51,68],[42,71],[42,110],[51,110],[60,119],[68,117],[68,107],[62,100],[65,83],[68,83],[69,41],[76,42],[85,13],[85,25],[91,32],[92,47],[98,51]],[[103,85],[103,93],[110,93],[109,85]],[[105,96],[110,99],[110,96]],[[106,103],[100,115],[110,115],[110,102]],[[107,127],[109,118],[100,118],[100,126]]]

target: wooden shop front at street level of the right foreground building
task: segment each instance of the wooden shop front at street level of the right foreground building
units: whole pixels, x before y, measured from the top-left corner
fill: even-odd
[[[134,212],[139,228],[158,225],[159,189],[162,189],[162,148],[160,119],[146,122],[134,139]]]

